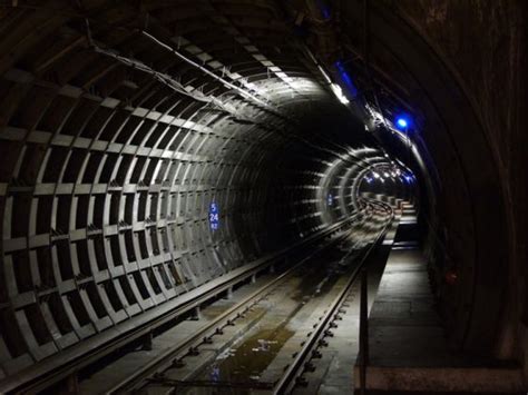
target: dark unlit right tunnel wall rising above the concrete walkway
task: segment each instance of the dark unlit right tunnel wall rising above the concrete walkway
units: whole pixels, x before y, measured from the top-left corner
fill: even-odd
[[[510,141],[524,141],[518,132],[520,118],[514,121],[512,113],[521,113],[518,102],[526,90],[516,90],[510,82],[524,81],[519,76],[525,53],[519,17],[526,16],[525,6],[497,2],[493,12],[479,1],[370,6],[370,66],[379,83],[384,117],[394,120],[400,111],[412,113],[415,127],[411,139],[420,140],[418,149],[427,147],[427,152],[419,154],[432,177],[434,194],[423,194],[429,195],[430,216],[422,219],[428,221],[428,251],[432,251],[429,260],[447,333],[456,348],[519,358],[515,345],[525,329],[518,306],[526,299],[520,296],[522,292],[519,294],[525,288],[519,265],[526,260],[512,253],[524,248],[512,240],[516,234],[525,234],[526,227],[522,219],[511,216],[515,210],[524,213],[518,206],[524,201],[521,190],[526,190],[526,181],[512,176],[521,171],[511,167],[505,149]],[[340,9],[352,52],[353,39],[362,37],[365,26],[364,13],[358,9],[362,8],[354,2]],[[509,55],[490,56],[499,52]],[[361,56],[356,52],[356,57]],[[488,73],[472,71],[480,62]],[[503,70],[507,63],[510,69]],[[497,96],[491,95],[502,89],[506,90],[500,95],[508,100],[519,100],[511,102],[509,109],[503,102],[497,103]],[[498,125],[497,117],[505,122]],[[502,134],[508,136],[508,142],[499,138]],[[518,156],[515,160],[517,166],[522,162]],[[510,164],[509,170],[503,167],[506,162]],[[420,175],[417,161],[411,160],[409,166]],[[510,205],[510,190],[519,191],[516,209]],[[444,280],[449,270],[458,275],[454,284]]]

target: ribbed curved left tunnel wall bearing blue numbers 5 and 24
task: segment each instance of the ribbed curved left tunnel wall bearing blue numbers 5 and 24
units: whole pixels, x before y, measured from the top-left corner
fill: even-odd
[[[2,12],[12,27],[2,53],[20,42],[0,67],[0,377],[358,209],[354,177],[380,154],[299,120],[305,111],[336,118],[335,129],[355,127],[339,120],[342,110],[311,67],[278,57],[274,65],[282,60],[289,75],[273,66],[270,78],[252,47],[253,63],[222,71],[272,96],[278,107],[270,109],[131,28],[94,28],[89,39],[128,52],[136,67],[96,53],[84,21],[46,9]],[[127,17],[126,7],[120,12]],[[221,75],[197,48],[185,39],[182,50]]]

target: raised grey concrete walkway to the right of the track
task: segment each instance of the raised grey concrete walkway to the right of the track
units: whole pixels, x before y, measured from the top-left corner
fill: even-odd
[[[404,218],[412,227],[412,213]],[[412,235],[409,230],[404,234]],[[397,237],[369,317],[369,393],[519,393],[521,375],[515,366],[497,367],[450,349],[426,258],[409,241]]]

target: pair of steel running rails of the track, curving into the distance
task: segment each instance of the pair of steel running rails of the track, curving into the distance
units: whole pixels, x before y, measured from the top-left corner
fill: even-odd
[[[236,324],[238,319],[248,314],[255,306],[262,300],[266,299],[272,295],[281,285],[285,284],[303,265],[311,259],[316,258],[319,255],[324,254],[326,249],[338,245],[340,241],[346,239],[351,233],[356,229],[344,231],[340,236],[327,241],[324,246],[320,247],[314,253],[305,256],[293,267],[286,271],[280,274],[276,278],[272,279],[267,284],[263,285],[251,295],[246,296],[235,306],[232,306],[224,313],[204,325],[199,330],[193,334],[188,338],[180,339],[173,347],[166,349],[150,363],[138,368],[134,374],[129,375],[125,379],[116,383],[111,388],[107,391],[107,394],[124,394],[124,393],[169,393],[175,388],[182,387],[223,387],[223,388],[253,388],[253,389],[265,389],[266,392],[273,392],[274,394],[287,394],[300,384],[303,384],[303,373],[311,368],[311,359],[317,356],[319,348],[326,342],[325,338],[331,336],[331,328],[334,325],[334,320],[339,319],[339,312],[342,310],[343,305],[346,303],[350,295],[350,290],[353,284],[358,280],[359,273],[363,266],[363,263],[375,248],[379,240],[383,238],[388,226],[392,223],[393,214],[388,205],[378,201],[365,201],[365,211],[368,213],[368,219],[377,217],[381,229],[377,233],[374,243],[366,248],[362,257],[359,259],[356,267],[350,273],[346,284],[332,299],[331,306],[326,308],[323,316],[320,318],[319,324],[309,334],[305,342],[303,342],[300,350],[296,353],[295,358],[285,368],[284,375],[281,379],[274,383],[229,383],[229,382],[207,382],[207,381],[176,381],[170,379],[170,375],[166,375],[166,372],[183,367],[187,357],[196,356],[199,354],[199,347],[212,344],[214,338],[223,336],[224,329]],[[374,221],[375,224],[377,221]],[[341,260],[346,260],[352,250],[345,253]],[[203,368],[202,368],[203,369]],[[153,387],[158,388],[155,391]],[[159,388],[165,388],[160,391]]]

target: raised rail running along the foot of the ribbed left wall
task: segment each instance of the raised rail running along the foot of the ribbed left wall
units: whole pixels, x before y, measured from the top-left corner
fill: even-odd
[[[82,340],[81,344],[50,357],[46,363],[33,365],[27,371],[21,371],[18,374],[7,377],[0,382],[0,394],[38,393],[77,374],[81,368],[148,335],[164,324],[201,306],[228,288],[247,280],[257,273],[265,270],[277,260],[296,251],[300,247],[310,245],[339,231],[352,224],[363,211],[365,210],[359,211],[351,218],[322,229],[295,243],[293,246],[283,248],[244,267],[234,269],[231,276],[222,276],[216,280],[160,305],[159,308],[147,310],[140,316],[124,322],[123,325],[119,325],[117,328],[108,329],[106,333]]]

